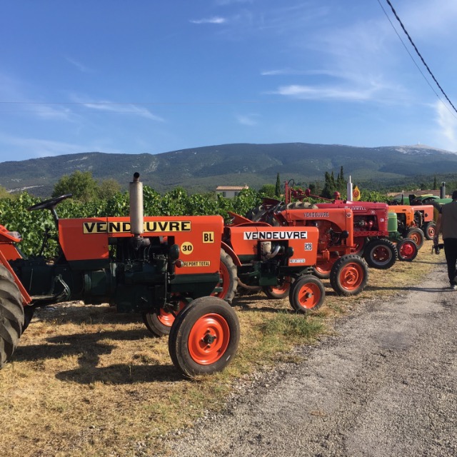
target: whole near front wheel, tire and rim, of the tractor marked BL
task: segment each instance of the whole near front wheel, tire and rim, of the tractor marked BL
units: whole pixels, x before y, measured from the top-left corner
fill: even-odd
[[[240,323],[229,303],[200,297],[177,316],[169,336],[176,368],[190,378],[222,371],[236,354]]]

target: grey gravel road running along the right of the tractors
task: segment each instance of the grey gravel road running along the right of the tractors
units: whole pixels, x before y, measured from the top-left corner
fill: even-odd
[[[167,438],[166,455],[457,456],[457,291],[445,269],[361,304],[334,336],[297,350],[303,363]]]

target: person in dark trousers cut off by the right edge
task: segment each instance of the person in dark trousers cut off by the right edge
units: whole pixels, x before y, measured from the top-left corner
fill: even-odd
[[[457,191],[452,193],[452,201],[441,206],[433,243],[438,244],[438,236],[443,233],[444,255],[448,264],[448,278],[451,288],[457,289]]]

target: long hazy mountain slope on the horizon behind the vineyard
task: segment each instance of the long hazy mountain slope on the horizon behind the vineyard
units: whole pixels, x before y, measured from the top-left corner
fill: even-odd
[[[429,146],[361,148],[326,144],[224,144],[163,154],[88,152],[0,164],[0,185],[48,196],[64,174],[91,171],[97,180],[114,178],[126,187],[135,171],[159,192],[183,186],[214,191],[218,185],[253,188],[281,179],[323,181],[326,171],[346,178],[401,184],[414,176],[457,173],[457,154]]]

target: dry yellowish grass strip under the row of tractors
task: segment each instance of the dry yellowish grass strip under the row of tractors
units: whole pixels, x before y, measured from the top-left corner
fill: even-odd
[[[361,300],[404,293],[438,262],[428,241],[412,263],[371,269],[360,296],[335,296],[325,281],[326,304],[308,317],[287,300],[237,298],[238,354],[196,381],[179,376],[166,338],[151,337],[138,316],[79,303],[42,310],[0,371],[1,456],[152,456],[159,436],[222,408],[241,376],[288,360]]]

